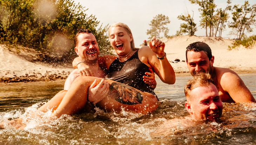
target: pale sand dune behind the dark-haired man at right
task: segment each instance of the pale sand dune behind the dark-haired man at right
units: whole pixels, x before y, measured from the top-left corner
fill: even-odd
[[[228,50],[233,40],[217,37],[178,36],[171,39],[162,39],[166,43],[164,51],[167,59],[186,61],[186,48],[189,44],[200,41],[207,43],[215,57],[214,66],[225,67],[237,73],[256,72],[256,46],[250,49],[244,47]],[[176,73],[188,72],[186,62],[171,63]]]

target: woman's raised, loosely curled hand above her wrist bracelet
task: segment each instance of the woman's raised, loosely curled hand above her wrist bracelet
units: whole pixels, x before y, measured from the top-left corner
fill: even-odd
[[[153,37],[151,41],[149,42],[150,49],[156,53],[158,57],[164,57],[164,47],[165,44],[160,39],[157,39],[156,37]]]

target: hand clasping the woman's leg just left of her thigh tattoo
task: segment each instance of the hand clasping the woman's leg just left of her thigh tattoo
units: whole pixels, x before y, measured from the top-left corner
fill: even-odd
[[[93,84],[88,88],[88,101],[94,105],[103,100],[109,92],[108,82],[104,79],[102,79],[98,85],[96,85],[96,82],[97,81],[94,80]]]

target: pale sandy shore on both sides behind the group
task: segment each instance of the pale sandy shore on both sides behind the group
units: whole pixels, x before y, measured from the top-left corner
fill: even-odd
[[[171,39],[163,38],[166,43],[167,59],[174,68],[176,76],[189,75],[186,64],[186,47],[193,42],[207,43],[215,57],[214,66],[230,68],[237,73],[256,72],[256,46],[228,50],[234,40],[217,37],[177,36]],[[10,48],[9,48],[10,49]],[[66,79],[73,70],[71,64],[52,66],[35,61],[36,53],[31,49],[11,49],[0,45],[0,82],[29,82]],[[171,61],[180,59],[178,63]],[[183,61],[184,60],[184,61]]]

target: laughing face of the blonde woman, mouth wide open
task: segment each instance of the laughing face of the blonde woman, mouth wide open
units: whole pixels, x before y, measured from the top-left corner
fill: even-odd
[[[133,40],[132,34],[128,34],[122,27],[112,27],[109,29],[109,40],[117,55],[127,55],[131,51],[130,42]]]

